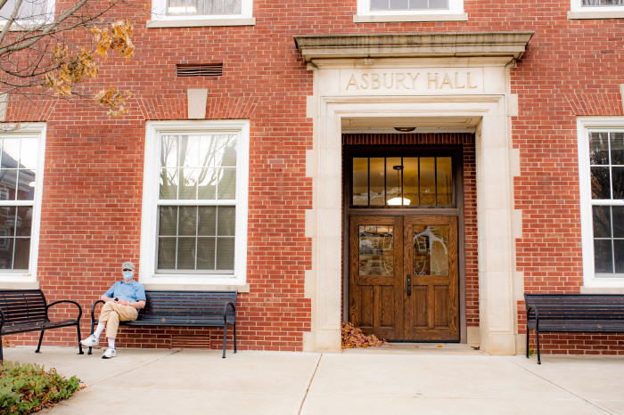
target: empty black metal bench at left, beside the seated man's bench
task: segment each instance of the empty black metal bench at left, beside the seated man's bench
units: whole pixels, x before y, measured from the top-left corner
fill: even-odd
[[[50,321],[48,310],[53,305],[61,303],[76,305],[78,317],[75,320]],[[77,302],[61,300],[47,304],[41,289],[0,289],[0,361],[3,360],[2,337],[5,335],[41,331],[35,351],[39,353],[45,330],[70,326],[76,326],[78,354],[83,354],[80,344],[80,317],[82,317],[82,307]]]

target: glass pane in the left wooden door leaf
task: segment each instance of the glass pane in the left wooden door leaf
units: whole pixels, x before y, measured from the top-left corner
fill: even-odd
[[[394,226],[360,225],[359,275],[393,275]]]

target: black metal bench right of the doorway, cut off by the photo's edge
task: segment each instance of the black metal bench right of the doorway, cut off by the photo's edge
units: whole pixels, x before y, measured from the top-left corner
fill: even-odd
[[[624,333],[624,295],[524,294],[527,307],[527,358],[529,333]]]

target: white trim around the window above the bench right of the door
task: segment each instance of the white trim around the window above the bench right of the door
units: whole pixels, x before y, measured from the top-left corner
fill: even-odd
[[[595,288],[624,287],[624,277],[598,277],[594,273],[594,229],[592,218],[591,175],[589,174],[589,133],[597,131],[624,132],[624,117],[579,117],[580,225],[583,247],[583,285]],[[609,205],[618,205],[610,202]],[[624,205],[624,202],[621,202]]]

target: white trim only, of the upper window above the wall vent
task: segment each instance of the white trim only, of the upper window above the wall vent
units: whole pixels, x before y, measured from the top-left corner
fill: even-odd
[[[240,14],[168,15],[167,0],[152,1],[152,20],[147,28],[187,28],[197,26],[253,26],[253,0],[241,0]]]

